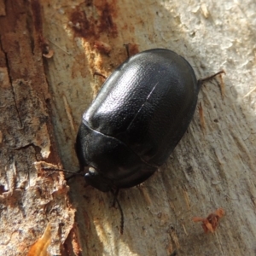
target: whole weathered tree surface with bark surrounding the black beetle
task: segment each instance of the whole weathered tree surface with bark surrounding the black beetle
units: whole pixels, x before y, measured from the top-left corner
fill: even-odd
[[[171,2],[0,1],[1,255],[26,255],[48,223],[53,255],[255,255],[256,3]],[[112,73],[127,43],[176,51],[198,79],[226,75],[202,86],[159,172],[119,192],[120,235],[113,195],[40,166],[79,169],[76,133],[104,82],[94,73]],[[220,207],[214,233],[192,221]]]

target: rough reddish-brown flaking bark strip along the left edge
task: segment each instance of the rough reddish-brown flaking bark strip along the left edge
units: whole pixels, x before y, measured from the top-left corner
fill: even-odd
[[[40,172],[34,166],[40,160],[60,160],[44,75],[40,5],[35,12],[33,3],[37,2],[0,4],[2,255],[26,255],[49,222],[55,235],[51,251],[60,252],[74,217],[63,175]]]

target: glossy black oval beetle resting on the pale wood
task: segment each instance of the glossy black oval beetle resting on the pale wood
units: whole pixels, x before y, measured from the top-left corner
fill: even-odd
[[[79,127],[76,152],[81,170],[89,166],[86,182],[107,192],[150,177],[187,130],[204,80],[169,49],[149,49],[121,64]]]

